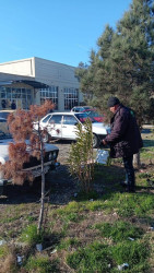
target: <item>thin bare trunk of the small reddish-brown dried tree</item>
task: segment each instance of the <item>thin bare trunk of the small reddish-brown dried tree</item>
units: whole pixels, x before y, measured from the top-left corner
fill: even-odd
[[[44,219],[44,204],[45,204],[45,171],[44,171],[44,154],[43,154],[43,142],[40,141],[40,161],[42,161],[42,199],[40,199],[40,212],[38,219],[38,233],[40,232],[43,219]]]

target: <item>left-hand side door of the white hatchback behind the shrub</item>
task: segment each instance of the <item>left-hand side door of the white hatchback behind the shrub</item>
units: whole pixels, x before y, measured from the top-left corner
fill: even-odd
[[[52,138],[62,138],[61,120],[62,115],[51,115],[50,119],[48,120],[47,131]]]

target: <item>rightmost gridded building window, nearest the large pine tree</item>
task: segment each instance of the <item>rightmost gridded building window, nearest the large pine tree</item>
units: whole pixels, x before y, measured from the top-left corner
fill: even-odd
[[[79,104],[79,90],[64,87],[64,110],[70,110]]]

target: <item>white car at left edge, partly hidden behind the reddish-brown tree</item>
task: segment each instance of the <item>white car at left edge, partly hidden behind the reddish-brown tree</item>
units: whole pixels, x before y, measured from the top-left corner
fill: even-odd
[[[4,126],[4,122],[2,122]],[[13,142],[13,139],[8,130],[7,120],[5,120],[5,130],[0,123],[0,164],[5,164],[9,161],[9,144]],[[27,151],[29,151],[28,141],[26,141]],[[45,174],[47,174],[50,169],[55,169],[57,165],[59,149],[56,145],[45,143]],[[26,173],[32,173],[33,177],[39,177],[42,175],[42,166],[40,161],[34,156],[29,157],[29,162],[23,164],[23,170]],[[8,180],[4,178],[3,171],[0,170],[0,186],[7,183]]]

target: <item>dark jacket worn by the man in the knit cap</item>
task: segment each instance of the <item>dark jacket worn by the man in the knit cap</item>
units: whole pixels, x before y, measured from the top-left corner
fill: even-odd
[[[110,120],[111,132],[105,138],[111,157],[128,157],[143,146],[140,130],[131,109],[119,105]]]

